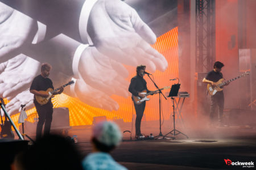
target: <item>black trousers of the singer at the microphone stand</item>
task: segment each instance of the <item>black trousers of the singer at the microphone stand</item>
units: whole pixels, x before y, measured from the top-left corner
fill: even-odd
[[[142,104],[135,104],[134,108],[136,112],[136,121],[135,121],[135,133],[136,135],[141,135],[141,120],[143,117],[143,113],[146,107],[146,101],[143,101]]]

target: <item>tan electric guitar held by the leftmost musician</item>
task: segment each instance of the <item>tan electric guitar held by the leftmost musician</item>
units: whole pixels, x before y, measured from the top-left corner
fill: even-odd
[[[70,82],[68,82],[67,84],[64,84],[63,86],[61,87],[66,87],[68,85],[71,85],[71,84],[74,84],[75,82],[72,80]],[[53,90],[52,88],[48,88],[46,91],[39,91],[39,92],[43,92],[44,94],[47,94],[49,95],[48,97],[43,97],[43,96],[38,96],[38,95],[35,95],[35,99],[36,101],[41,104],[41,105],[44,105],[44,104],[47,104],[49,99],[51,99],[52,95],[54,92],[60,90],[60,88],[56,88],[55,90]]]

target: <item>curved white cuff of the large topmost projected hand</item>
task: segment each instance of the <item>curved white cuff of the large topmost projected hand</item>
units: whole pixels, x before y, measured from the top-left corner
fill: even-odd
[[[87,24],[90,15],[90,11],[92,10],[94,4],[97,0],[86,0],[84,5],[82,5],[82,10],[79,18],[79,33],[82,42],[88,42],[90,45],[93,45],[92,40],[87,32]],[[87,41],[88,40],[88,41]]]

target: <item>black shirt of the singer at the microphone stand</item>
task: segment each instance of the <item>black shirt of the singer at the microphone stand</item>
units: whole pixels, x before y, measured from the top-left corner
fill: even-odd
[[[144,80],[143,77],[139,75],[136,75],[133,78],[131,78],[129,92],[131,92],[131,94],[133,94],[134,96],[138,96],[138,92],[141,92],[143,90],[147,90],[146,80]]]

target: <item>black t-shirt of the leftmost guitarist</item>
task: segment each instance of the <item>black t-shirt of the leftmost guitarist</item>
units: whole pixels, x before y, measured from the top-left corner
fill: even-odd
[[[44,78],[41,74],[34,78],[30,86],[30,90],[36,90],[36,91],[46,91],[48,88],[54,89],[52,85],[52,80],[49,78]],[[34,95],[34,103],[35,102],[36,100]],[[51,99],[49,100],[48,103],[51,103]]]

